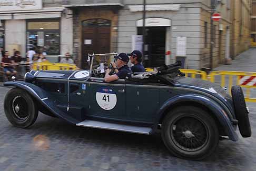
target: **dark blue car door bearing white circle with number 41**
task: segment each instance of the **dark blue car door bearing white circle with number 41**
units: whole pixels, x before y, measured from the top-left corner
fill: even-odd
[[[90,116],[127,119],[124,80],[109,84],[103,78],[91,78],[89,86]]]

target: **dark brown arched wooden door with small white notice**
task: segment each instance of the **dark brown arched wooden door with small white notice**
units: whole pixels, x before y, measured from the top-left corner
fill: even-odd
[[[87,68],[88,54],[110,53],[111,21],[107,19],[88,19],[82,22],[82,67]]]

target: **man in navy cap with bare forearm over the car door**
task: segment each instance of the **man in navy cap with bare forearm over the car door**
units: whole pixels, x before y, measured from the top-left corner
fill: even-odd
[[[114,75],[110,75],[111,69],[106,70],[104,81],[107,83],[116,81],[118,79],[125,79],[128,73],[132,73],[131,69],[127,66],[129,57],[125,53],[121,53],[115,57],[117,59],[116,64],[111,63],[115,71]]]

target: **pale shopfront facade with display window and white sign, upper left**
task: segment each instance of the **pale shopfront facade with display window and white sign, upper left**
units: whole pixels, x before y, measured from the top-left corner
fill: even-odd
[[[60,0],[0,1],[0,46],[22,56],[30,48],[46,51],[50,61],[73,50],[73,19],[63,15]]]

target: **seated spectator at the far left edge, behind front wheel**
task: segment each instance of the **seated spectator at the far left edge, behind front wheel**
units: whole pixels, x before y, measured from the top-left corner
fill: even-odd
[[[13,63],[14,61],[12,60],[12,57],[9,56],[9,52],[5,51],[4,56],[2,58],[1,65],[4,67],[4,72],[6,73],[7,76],[12,76],[17,74],[17,72],[14,70]]]

